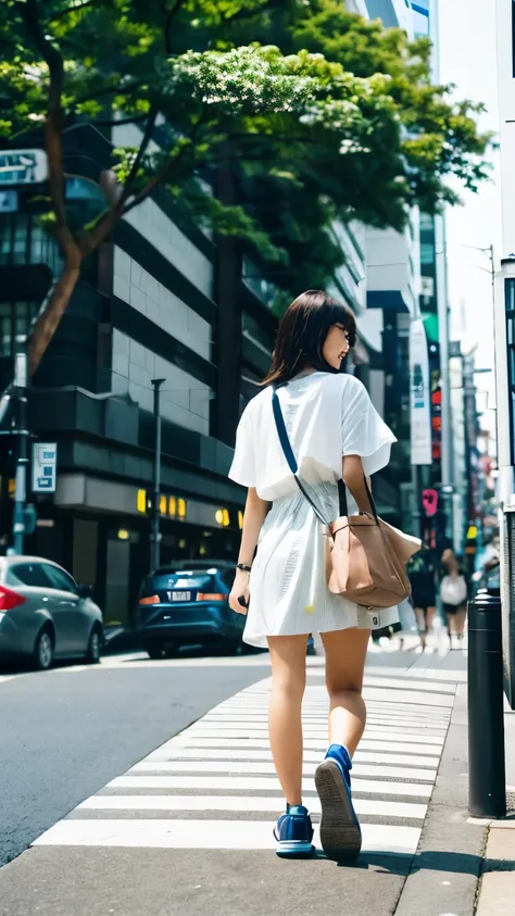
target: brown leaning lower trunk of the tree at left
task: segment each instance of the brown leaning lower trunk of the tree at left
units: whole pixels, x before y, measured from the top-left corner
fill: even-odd
[[[28,372],[30,378],[37,371],[47,348],[66,311],[70,297],[80,276],[83,253],[76,246],[68,246],[65,252],[64,269],[50,293],[45,310],[36,319],[27,343]]]

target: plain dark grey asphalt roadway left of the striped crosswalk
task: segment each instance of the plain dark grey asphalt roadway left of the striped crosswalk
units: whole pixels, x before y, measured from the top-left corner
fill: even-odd
[[[266,655],[137,658],[0,677],[0,865],[110,779],[268,672]]]

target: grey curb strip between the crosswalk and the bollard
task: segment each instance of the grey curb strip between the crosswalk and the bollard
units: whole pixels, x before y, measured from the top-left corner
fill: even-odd
[[[473,916],[487,842],[467,811],[467,689],[460,685],[417,853],[395,916]]]

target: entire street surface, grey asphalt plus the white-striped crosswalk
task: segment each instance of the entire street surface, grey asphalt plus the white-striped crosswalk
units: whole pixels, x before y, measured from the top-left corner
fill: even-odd
[[[327,700],[323,660],[309,668],[304,791],[316,823]],[[352,868],[274,854],[282,801],[266,739],[266,656],[131,656],[0,679],[4,857],[17,855],[0,869],[0,916],[391,916],[424,852],[463,683],[454,668],[413,647],[370,653],[353,778],[364,848]],[[454,884],[449,877],[438,883]],[[423,896],[403,912],[468,916],[431,908],[429,887]]]

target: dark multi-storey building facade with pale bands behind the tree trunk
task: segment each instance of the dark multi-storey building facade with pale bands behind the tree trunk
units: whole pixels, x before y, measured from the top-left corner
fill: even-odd
[[[74,172],[66,195],[84,218],[100,193],[110,143],[84,128],[66,155]],[[17,211],[0,214],[2,390],[61,266],[56,243],[21,192]],[[33,441],[58,443],[58,486],[53,495],[29,497],[38,524],[26,551],[93,582],[106,622],[130,623],[149,568],[152,379],[165,379],[162,562],[235,557],[244,494],[227,479],[230,443],[241,406],[268,367],[275,329],[260,288],[241,279],[233,242],[216,246],[161,192],[85,262],[29,390]],[[4,552],[14,442],[2,437],[0,444]]]

